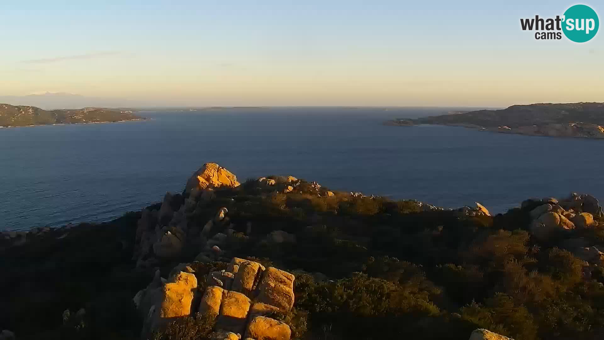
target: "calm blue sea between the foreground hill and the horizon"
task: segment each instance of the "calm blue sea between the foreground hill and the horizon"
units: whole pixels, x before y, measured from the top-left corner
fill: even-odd
[[[0,129],[0,230],[106,221],[180,192],[216,162],[332,189],[503,212],[528,197],[604,198],[604,140],[513,136],[385,119],[449,109],[147,112],[143,122]]]

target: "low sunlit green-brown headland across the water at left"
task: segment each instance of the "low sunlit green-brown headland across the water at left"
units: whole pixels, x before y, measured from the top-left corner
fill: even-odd
[[[0,127],[125,122],[140,120],[130,110],[82,108],[42,110],[35,106],[0,104]]]

